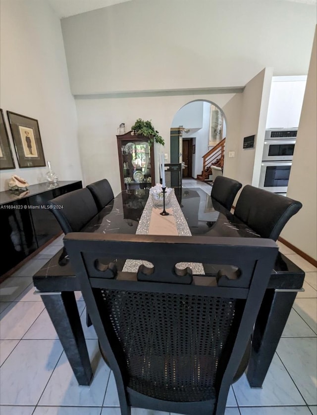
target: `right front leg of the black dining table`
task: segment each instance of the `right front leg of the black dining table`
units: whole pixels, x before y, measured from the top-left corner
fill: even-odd
[[[261,388],[297,292],[266,290],[253,332],[247,378],[252,388]]]

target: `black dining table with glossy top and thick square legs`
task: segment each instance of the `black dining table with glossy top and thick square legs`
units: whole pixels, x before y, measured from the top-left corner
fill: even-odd
[[[175,189],[192,235],[260,237],[200,188]],[[126,190],[117,195],[83,231],[135,234],[149,196],[148,189]],[[205,275],[214,269],[204,265]],[[251,387],[262,387],[296,294],[302,290],[305,273],[278,253],[257,317],[247,378]],[[93,372],[77,309],[75,291],[80,283],[63,249],[33,277],[34,285],[64,348],[79,385],[89,385]]]

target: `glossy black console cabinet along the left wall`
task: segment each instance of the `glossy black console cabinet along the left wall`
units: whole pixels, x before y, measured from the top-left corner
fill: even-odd
[[[0,276],[56,236],[60,226],[47,209],[56,196],[82,188],[81,181],[33,184],[27,193],[0,192],[1,262]]]

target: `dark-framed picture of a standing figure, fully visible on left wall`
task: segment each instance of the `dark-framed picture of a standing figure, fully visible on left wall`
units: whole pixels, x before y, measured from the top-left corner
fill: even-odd
[[[6,113],[19,167],[45,167],[38,120],[11,111],[6,111]]]

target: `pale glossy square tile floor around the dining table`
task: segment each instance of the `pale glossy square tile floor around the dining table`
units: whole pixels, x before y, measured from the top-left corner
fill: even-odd
[[[195,180],[185,179],[184,187],[211,192]],[[0,285],[1,415],[120,415],[113,374],[101,359],[94,328],[84,324],[80,292],[77,305],[94,369],[90,387],[78,386],[41,297],[33,295],[32,276],[61,246],[59,237]],[[297,295],[263,389],[251,389],[242,376],[230,389],[225,415],[317,415],[317,269],[279,246],[306,272],[305,292]],[[133,409],[132,415],[167,413]]]

